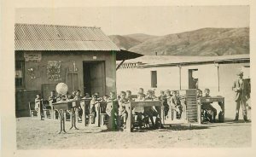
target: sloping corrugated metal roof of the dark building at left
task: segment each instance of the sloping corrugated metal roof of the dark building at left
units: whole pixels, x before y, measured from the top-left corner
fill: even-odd
[[[15,24],[15,50],[115,50],[99,27]]]

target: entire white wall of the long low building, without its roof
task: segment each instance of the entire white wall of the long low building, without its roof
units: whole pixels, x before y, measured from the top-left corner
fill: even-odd
[[[189,65],[181,67],[181,90],[189,89],[189,69],[198,69],[198,87],[201,90],[210,89],[211,96],[224,96],[225,117],[233,119],[235,115],[235,92],[232,91],[232,84],[237,78],[236,73],[239,68],[249,66],[250,63],[232,64],[203,64]],[[137,94],[139,87],[144,90],[151,88],[150,71],[157,71],[156,95],[160,95],[160,90],[179,90],[179,67],[147,67],[133,69],[119,69],[117,71],[117,90],[131,90]],[[244,78],[249,78],[249,70],[244,69]],[[219,90],[218,90],[219,74]],[[220,110],[217,103],[212,104]]]

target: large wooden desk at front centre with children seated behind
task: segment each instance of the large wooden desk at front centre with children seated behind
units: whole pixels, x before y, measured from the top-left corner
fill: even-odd
[[[126,111],[128,112],[128,119],[126,122],[127,131],[131,132],[132,126],[132,108],[134,107],[155,107],[159,113],[160,119],[162,118],[162,103],[160,101],[143,101],[143,102],[130,102],[126,104]],[[160,120],[161,121],[161,120]]]

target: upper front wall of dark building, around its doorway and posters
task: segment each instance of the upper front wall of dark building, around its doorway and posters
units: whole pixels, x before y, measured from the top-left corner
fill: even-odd
[[[16,60],[24,60],[23,52],[15,52]],[[35,52],[37,53],[37,52]],[[41,90],[42,84],[56,84],[66,82],[67,68],[73,68],[73,62],[79,71],[79,87],[83,92],[83,61],[105,61],[106,92],[115,90],[115,55],[112,52],[42,52],[42,60],[39,62],[25,61],[25,89]],[[96,59],[93,57],[96,56]],[[61,61],[61,79],[49,80],[47,74],[48,61]],[[35,70],[35,77],[31,78],[29,68]]]

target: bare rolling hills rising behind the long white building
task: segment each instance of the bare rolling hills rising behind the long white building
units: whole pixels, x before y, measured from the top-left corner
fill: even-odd
[[[131,34],[120,37],[112,38],[113,43],[143,55],[249,54],[249,28],[203,28],[166,36]]]

